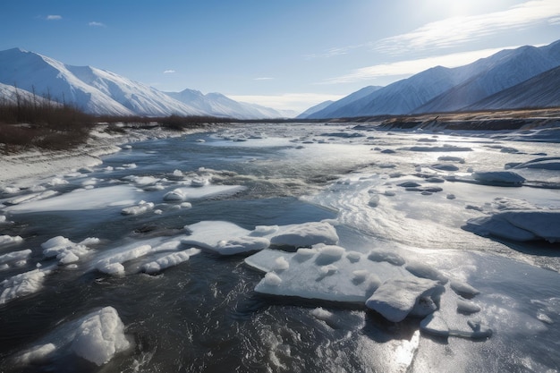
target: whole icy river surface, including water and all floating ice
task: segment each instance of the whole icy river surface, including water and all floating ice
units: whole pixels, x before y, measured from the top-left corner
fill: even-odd
[[[0,185],[0,371],[558,371],[559,140],[250,124]]]

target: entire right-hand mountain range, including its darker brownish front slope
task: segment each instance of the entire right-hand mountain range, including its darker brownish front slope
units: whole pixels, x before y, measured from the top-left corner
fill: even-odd
[[[455,68],[436,66],[386,87],[366,87],[299,117],[560,106],[560,40],[545,47],[505,49]]]

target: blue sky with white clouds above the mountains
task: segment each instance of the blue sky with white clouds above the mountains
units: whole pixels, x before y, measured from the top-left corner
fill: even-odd
[[[437,64],[549,44],[560,1],[6,0],[0,35],[0,50],[303,111]]]

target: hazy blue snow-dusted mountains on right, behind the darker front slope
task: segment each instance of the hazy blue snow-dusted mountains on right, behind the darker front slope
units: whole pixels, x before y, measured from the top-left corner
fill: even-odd
[[[436,66],[402,81],[395,81],[367,95],[358,90],[315,111],[306,118],[352,117],[379,114],[420,114],[471,109],[490,97],[560,65],[560,40],[545,47],[506,49],[453,69]],[[533,81],[537,83],[538,81]],[[527,86],[524,89],[528,89]],[[539,106],[535,97],[525,96],[525,106]],[[535,101],[535,102],[532,102]],[[510,105],[513,105],[511,102]],[[484,109],[482,104],[476,106]],[[517,107],[517,106],[516,106]],[[514,107],[510,107],[514,108]]]

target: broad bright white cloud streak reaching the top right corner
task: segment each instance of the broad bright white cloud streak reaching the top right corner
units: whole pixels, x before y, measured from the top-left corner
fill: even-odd
[[[560,1],[532,0],[505,11],[448,18],[428,23],[419,29],[382,39],[375,47],[379,52],[401,54],[410,49],[425,50],[456,47],[506,30],[557,21]]]

